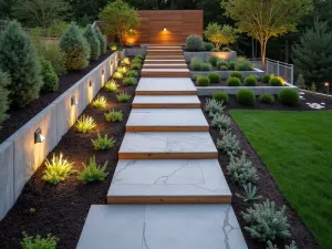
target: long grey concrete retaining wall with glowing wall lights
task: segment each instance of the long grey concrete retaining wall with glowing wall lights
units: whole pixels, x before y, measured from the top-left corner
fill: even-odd
[[[0,220],[48,154],[104,86],[122,54],[115,52],[110,55],[0,145]],[[72,97],[77,101],[76,105],[72,104]],[[34,143],[38,128],[45,137],[42,143]]]

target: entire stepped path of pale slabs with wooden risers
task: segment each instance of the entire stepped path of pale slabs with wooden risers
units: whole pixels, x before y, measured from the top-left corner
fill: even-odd
[[[180,48],[146,55],[110,205],[91,207],[77,249],[247,249],[186,62],[159,59]]]

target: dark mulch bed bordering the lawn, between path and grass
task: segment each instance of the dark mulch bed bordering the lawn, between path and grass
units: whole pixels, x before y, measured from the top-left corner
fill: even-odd
[[[311,100],[318,100],[317,96],[314,96],[313,94],[311,94],[311,95],[312,95],[312,96],[310,96]],[[200,97],[200,102],[203,103],[203,106],[205,105],[207,98],[208,97]],[[332,108],[331,100],[329,102],[329,106],[330,106],[330,108]],[[248,107],[243,107],[243,106],[236,104],[235,98],[231,97],[230,103],[225,108],[226,114],[228,114],[228,111],[232,110],[232,108],[248,108]],[[282,105],[276,103],[274,105],[257,104],[255,107],[251,107],[251,108],[252,110],[302,111],[303,106],[301,104],[298,107],[286,107],[286,106],[282,107]],[[207,115],[206,115],[206,118],[210,123],[211,120]],[[305,248],[305,249],[319,248],[315,239],[313,238],[311,232],[307,229],[307,227],[303,225],[303,222],[301,221],[300,217],[297,215],[294,209],[286,200],[282,193],[278,188],[273,177],[270,175],[268,168],[262,163],[260,157],[257,155],[256,151],[252,148],[251,144],[245,137],[240,127],[236,124],[236,122],[234,120],[231,120],[231,131],[239,139],[241,149],[246,152],[247,157],[252,162],[255,167],[258,169],[260,179],[257,183],[257,187],[258,187],[258,194],[260,196],[262,196],[262,200],[270,199],[270,200],[273,200],[278,207],[282,207],[283,205],[287,207],[287,216],[289,219],[290,231],[291,231],[292,236],[291,236],[291,238],[286,240],[286,245],[289,245],[289,243],[291,243],[292,240],[294,240],[297,242],[298,248]],[[219,132],[216,128],[210,127],[210,134],[211,134],[214,142],[217,143],[217,139],[220,137]],[[258,240],[252,239],[250,237],[249,232],[247,232],[243,229],[243,227],[247,224],[245,222],[245,220],[241,216],[241,211],[245,211],[251,205],[245,203],[241,198],[239,198],[235,195],[236,193],[238,193],[238,194],[242,193],[242,189],[240,187],[238,187],[237,185],[235,185],[230,180],[229,176],[227,175],[227,165],[229,164],[229,156],[224,155],[222,153],[219,152],[219,163],[220,163],[221,169],[226,176],[226,179],[230,187],[230,190],[234,195],[232,207],[237,215],[238,221],[242,229],[242,232],[243,232],[245,239],[248,243],[248,247],[250,249],[266,249],[267,246],[264,242],[259,242]],[[260,201],[262,201],[262,200],[260,200]],[[259,201],[257,201],[257,203],[259,203]],[[280,248],[283,248],[282,246],[284,245],[284,242],[282,240],[278,240],[278,241],[276,241],[276,243],[278,243],[278,246]]]

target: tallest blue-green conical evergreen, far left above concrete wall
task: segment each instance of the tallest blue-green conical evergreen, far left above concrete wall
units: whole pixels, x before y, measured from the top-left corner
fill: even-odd
[[[17,21],[0,37],[0,69],[11,79],[7,89],[12,105],[23,107],[39,97],[41,64],[30,38]]]

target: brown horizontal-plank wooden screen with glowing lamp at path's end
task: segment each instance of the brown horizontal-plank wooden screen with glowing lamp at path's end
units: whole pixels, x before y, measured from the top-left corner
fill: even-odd
[[[137,37],[126,43],[185,44],[189,34],[203,35],[203,10],[139,10],[138,15]]]

